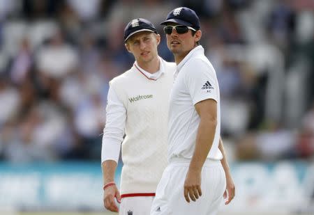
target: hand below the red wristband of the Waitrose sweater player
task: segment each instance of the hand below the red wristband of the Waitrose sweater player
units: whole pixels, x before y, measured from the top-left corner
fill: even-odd
[[[103,205],[106,209],[111,212],[119,212],[119,207],[117,206],[114,198],[117,198],[117,201],[121,202],[121,196],[116,185],[108,186],[103,192]]]

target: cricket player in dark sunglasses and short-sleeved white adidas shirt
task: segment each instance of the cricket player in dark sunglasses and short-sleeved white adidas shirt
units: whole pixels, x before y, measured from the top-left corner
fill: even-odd
[[[170,95],[169,165],[158,184],[151,214],[216,214],[226,184],[226,204],[234,196],[220,140],[216,72],[199,45],[202,31],[194,10],[176,8],[161,24],[165,25],[167,47],[174,54],[177,71]]]

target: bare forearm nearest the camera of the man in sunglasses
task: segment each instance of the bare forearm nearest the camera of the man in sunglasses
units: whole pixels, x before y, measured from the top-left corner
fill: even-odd
[[[197,130],[195,150],[190,161],[190,170],[202,170],[216,132],[216,120],[201,118]]]

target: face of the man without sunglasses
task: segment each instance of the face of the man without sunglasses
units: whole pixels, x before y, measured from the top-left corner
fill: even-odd
[[[137,63],[149,63],[158,56],[160,35],[149,31],[135,33],[126,41],[126,49],[132,53]]]

